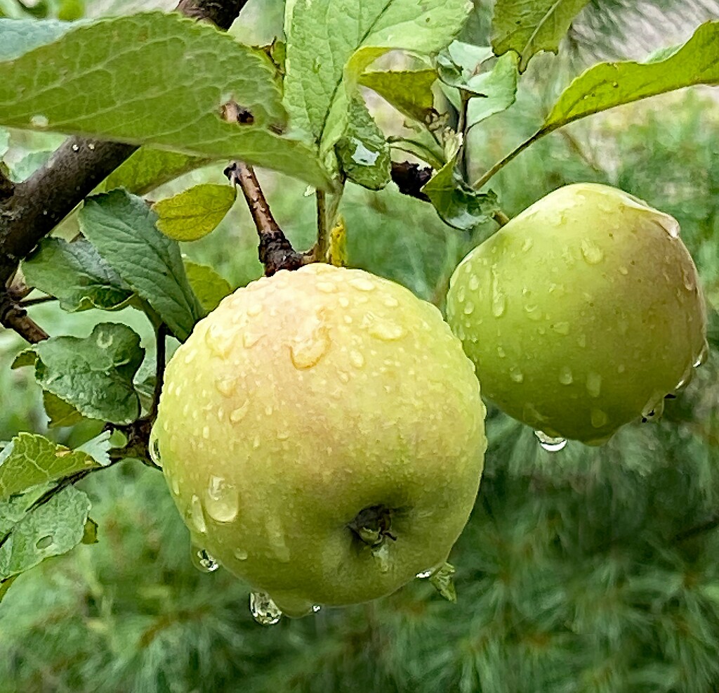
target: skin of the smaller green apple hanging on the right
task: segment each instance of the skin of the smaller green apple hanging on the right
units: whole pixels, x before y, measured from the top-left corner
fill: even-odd
[[[661,413],[706,350],[679,224],[598,184],[550,193],[472,250],[450,281],[447,316],[485,397],[590,445]]]

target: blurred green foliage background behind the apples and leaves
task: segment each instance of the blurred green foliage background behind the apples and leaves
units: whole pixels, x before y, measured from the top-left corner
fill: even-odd
[[[467,32],[479,41],[488,12],[485,3],[476,4]],[[705,3],[693,6],[711,11]],[[131,7],[105,0],[86,9]],[[609,13],[605,19],[614,24],[597,25],[598,15],[587,14],[570,37],[569,57],[533,61],[518,103],[472,133],[475,172],[533,131],[552,95],[592,51],[636,49],[631,32],[618,39],[621,27],[635,31],[646,19],[618,1],[596,0],[590,10]],[[281,3],[252,0],[243,17],[250,28],[237,27],[237,35],[267,40],[281,22]],[[654,19],[661,24],[661,13]],[[693,27],[685,28],[684,38]],[[661,30],[651,35],[658,42],[649,50],[666,45]],[[641,47],[645,41],[643,33]],[[56,143],[12,132],[11,155],[20,162]],[[222,182],[222,168],[183,176],[150,197],[198,181]],[[303,184],[261,176],[293,243],[311,245],[313,198]],[[677,217],[707,299],[719,305],[715,91],[679,92],[574,124],[521,155],[493,188],[513,216],[575,181],[618,186]],[[454,266],[492,228],[462,235],[393,186],[378,194],[350,187],[341,212],[353,266],[438,304]],[[261,272],[241,201],[218,230],[183,250],[211,263],[233,286]],[[201,574],[191,565],[188,533],[161,474],[127,461],[91,476],[82,487],[93,501],[100,543],[45,561],[12,586],[0,605],[0,690],[719,691],[719,528],[709,524],[719,517],[718,342],[711,313],[713,353],[692,384],[667,404],[659,423],[629,425],[603,448],[570,442],[561,453],[547,453],[531,430],[490,409],[480,497],[452,554],[458,604],[418,580],[381,602],[263,628],[249,614],[246,585],[222,570]],[[87,335],[106,319],[92,311],[63,314],[52,304],[32,315],[55,335]],[[150,326],[138,313],[111,320],[132,325],[152,347]],[[0,332],[0,440],[32,430],[76,445],[95,435],[93,424],[47,432],[32,374],[9,370],[21,348],[16,335]],[[690,527],[700,531],[687,534]]]

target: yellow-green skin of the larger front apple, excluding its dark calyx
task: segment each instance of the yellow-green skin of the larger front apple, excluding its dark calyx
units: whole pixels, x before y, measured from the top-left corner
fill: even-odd
[[[152,445],[193,543],[289,615],[444,563],[482,473],[485,407],[439,311],[311,264],[238,289],[168,364]],[[374,550],[348,527],[390,509]]]

